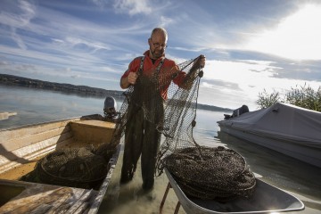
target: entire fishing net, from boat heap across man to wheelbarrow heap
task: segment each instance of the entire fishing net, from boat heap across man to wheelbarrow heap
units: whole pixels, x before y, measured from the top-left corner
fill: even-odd
[[[113,149],[125,135],[121,177],[133,177],[142,152],[142,144],[138,142],[143,139],[150,143],[147,150],[156,151],[154,160],[144,163],[143,178],[152,174],[153,179],[154,173],[159,176],[166,168],[189,196],[224,201],[238,196],[250,197],[255,177],[243,157],[224,147],[202,146],[193,139],[202,78],[202,69],[195,67],[198,60],[200,57],[177,67],[140,70],[136,84],[124,92],[125,99],[110,145],[96,150],[78,148],[53,152],[38,161],[36,169],[22,177],[23,180],[85,188],[97,186],[107,173],[106,166]],[[185,77],[181,76],[181,71],[185,71]],[[173,81],[180,82],[179,86]],[[157,133],[142,132],[146,123]],[[160,147],[161,134],[164,139]],[[154,144],[153,141],[158,142]],[[125,156],[128,150],[133,153]],[[146,169],[152,172],[143,172]]]

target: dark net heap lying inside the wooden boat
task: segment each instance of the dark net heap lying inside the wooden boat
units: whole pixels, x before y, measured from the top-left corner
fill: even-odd
[[[21,180],[98,189],[109,170],[108,162],[114,152],[115,148],[110,144],[103,144],[97,149],[60,149],[37,161],[35,169]]]

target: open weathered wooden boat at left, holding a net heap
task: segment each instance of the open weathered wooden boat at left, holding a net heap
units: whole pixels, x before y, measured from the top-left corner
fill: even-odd
[[[95,114],[0,130],[0,213],[96,213],[117,164],[120,144],[97,189],[19,178],[32,171],[37,160],[58,149],[110,144],[114,129],[114,122]]]

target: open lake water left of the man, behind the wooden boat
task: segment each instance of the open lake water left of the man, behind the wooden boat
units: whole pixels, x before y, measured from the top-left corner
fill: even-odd
[[[0,111],[17,112],[0,120],[0,128],[12,128],[39,122],[103,114],[105,97],[83,97],[60,92],[0,85]],[[116,99],[118,106],[122,98]]]

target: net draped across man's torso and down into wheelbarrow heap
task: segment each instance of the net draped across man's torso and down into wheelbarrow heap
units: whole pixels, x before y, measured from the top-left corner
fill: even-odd
[[[196,125],[197,97],[202,69],[194,67],[198,58],[178,64],[178,68],[162,68],[140,73],[136,85],[125,92],[114,140],[124,134],[133,114],[144,111],[144,119],[152,122],[165,136],[158,154],[157,174],[169,170],[177,184],[189,196],[228,201],[250,197],[256,180],[243,157],[224,147],[206,147],[193,139]],[[183,70],[186,78],[178,87],[171,81]],[[168,91],[164,88],[169,86]],[[167,93],[164,102],[162,93]],[[164,108],[165,105],[165,108]]]

